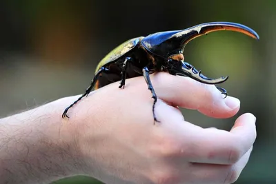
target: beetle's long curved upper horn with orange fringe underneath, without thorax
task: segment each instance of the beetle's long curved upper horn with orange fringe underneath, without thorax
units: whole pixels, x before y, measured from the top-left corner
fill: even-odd
[[[259,40],[259,35],[253,29],[248,28],[246,25],[242,25],[240,23],[230,23],[230,22],[211,22],[211,23],[202,23],[199,25],[195,25],[186,30],[182,30],[173,34],[171,38],[175,37],[177,39],[181,39],[182,44],[185,45],[204,34],[208,34],[209,32],[215,32],[219,30],[230,30],[235,32],[241,32],[243,34],[252,37],[253,39]],[[180,37],[180,38],[179,38]],[[184,48],[183,48],[184,49]]]

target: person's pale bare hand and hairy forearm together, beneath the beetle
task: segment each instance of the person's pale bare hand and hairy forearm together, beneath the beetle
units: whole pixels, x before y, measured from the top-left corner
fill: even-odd
[[[239,111],[214,85],[166,73],[150,75],[157,118],[144,78],[47,103],[0,119],[0,183],[50,183],[87,175],[103,183],[233,183],[256,139],[255,116],[239,116],[230,132],[185,121],[177,106],[223,119]]]

